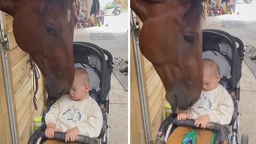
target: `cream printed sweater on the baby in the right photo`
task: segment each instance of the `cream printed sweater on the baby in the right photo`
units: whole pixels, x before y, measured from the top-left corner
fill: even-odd
[[[230,123],[233,112],[233,100],[221,85],[211,91],[202,91],[199,100],[187,110],[192,119],[207,114],[210,122],[222,125]]]

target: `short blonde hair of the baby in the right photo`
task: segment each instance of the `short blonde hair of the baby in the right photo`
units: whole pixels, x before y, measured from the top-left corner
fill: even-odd
[[[217,76],[220,74],[219,67],[216,62],[214,62],[211,59],[203,59],[203,71],[210,70],[214,76]]]

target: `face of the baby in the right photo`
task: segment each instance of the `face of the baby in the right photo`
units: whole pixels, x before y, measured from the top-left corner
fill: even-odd
[[[210,71],[204,71],[203,74],[203,90],[211,91],[219,85],[220,75],[213,75]]]

